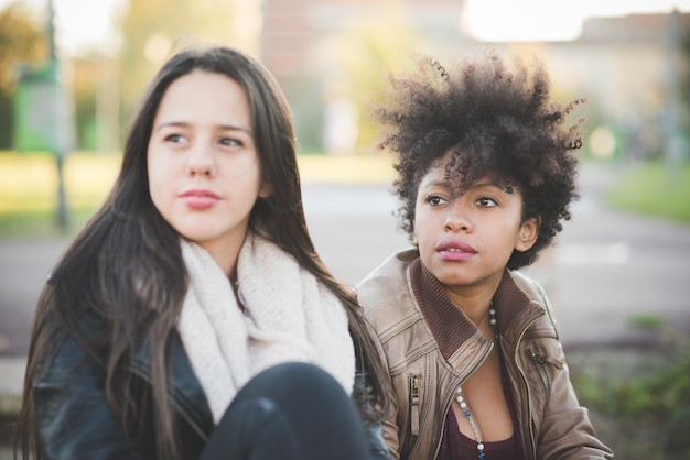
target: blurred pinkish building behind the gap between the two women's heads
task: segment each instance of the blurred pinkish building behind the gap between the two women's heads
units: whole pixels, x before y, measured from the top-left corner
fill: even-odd
[[[263,0],[263,28],[261,35],[261,61],[276,75],[293,108],[298,139],[304,151],[323,151],[328,140],[324,132],[326,113],[343,107],[353,91],[368,88],[352,88],[353,81],[345,68],[346,63],[338,46],[353,40],[353,32],[368,23],[382,35],[395,32],[387,30],[395,14],[411,34],[423,37],[418,43],[420,51],[428,44],[450,40],[464,43],[460,31],[462,0]],[[359,32],[362,35],[365,32]],[[365,36],[359,37],[366,41]],[[376,39],[371,39],[376,40]],[[390,53],[407,53],[411,50],[396,37],[390,40]],[[362,42],[351,42],[353,47]],[[364,54],[364,53],[363,53]],[[386,63],[379,63],[380,76],[387,73]],[[376,69],[374,69],[376,70]],[[333,102],[331,102],[333,101]],[[327,108],[330,103],[334,107]],[[362,103],[358,105],[362,108]],[[357,120],[344,120],[346,124]]]

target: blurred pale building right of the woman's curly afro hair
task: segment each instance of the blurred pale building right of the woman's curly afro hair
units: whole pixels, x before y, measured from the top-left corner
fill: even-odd
[[[542,58],[561,98],[585,97],[587,131],[604,128],[618,155],[659,155],[688,127],[690,14],[592,18],[571,42],[504,44]],[[687,133],[686,133],[687,135]]]

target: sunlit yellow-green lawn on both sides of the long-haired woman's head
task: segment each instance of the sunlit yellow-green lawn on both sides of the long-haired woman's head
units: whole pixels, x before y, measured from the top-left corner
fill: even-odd
[[[73,153],[63,165],[64,189],[72,233],[103,204],[112,186],[121,156]],[[302,182],[390,183],[389,156],[298,157]],[[55,160],[44,153],[0,152],[0,236],[60,234],[57,223],[58,175]]]

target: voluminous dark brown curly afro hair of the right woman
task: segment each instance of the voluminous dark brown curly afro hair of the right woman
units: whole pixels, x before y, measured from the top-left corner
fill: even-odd
[[[579,199],[576,174],[584,118],[563,125],[575,99],[562,106],[549,99],[550,80],[540,63],[533,68],[514,58],[511,66],[487,51],[446,70],[421,57],[418,70],[391,77],[376,111],[382,124],[380,149],[397,155],[393,183],[400,199],[401,228],[413,234],[417,193],[423,176],[451,151],[450,179],[465,187],[492,177],[522,194],[522,219],[541,219],[539,236],[526,252],[514,251],[508,269],[537,260],[569,220]]]

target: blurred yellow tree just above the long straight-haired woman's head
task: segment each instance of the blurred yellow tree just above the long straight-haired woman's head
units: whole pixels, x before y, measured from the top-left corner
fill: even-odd
[[[242,0],[130,0],[119,21],[122,121],[129,119],[147,83],[173,52],[200,42],[254,50],[258,34],[257,43],[250,43],[254,39],[244,33],[246,18],[239,12],[246,6],[240,3]]]

